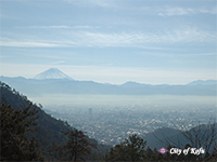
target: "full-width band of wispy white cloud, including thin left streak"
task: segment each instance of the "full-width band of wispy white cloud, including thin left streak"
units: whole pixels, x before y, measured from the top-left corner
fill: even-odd
[[[13,37],[13,36],[12,36]],[[23,36],[23,39],[2,38],[1,46],[22,46],[22,48],[55,48],[55,46],[133,46],[156,49],[161,45],[170,45],[175,43],[199,43],[199,42],[216,42],[217,33],[199,30],[197,28],[186,27],[174,31],[164,30],[156,32],[98,32],[74,29],[46,32],[38,36]]]

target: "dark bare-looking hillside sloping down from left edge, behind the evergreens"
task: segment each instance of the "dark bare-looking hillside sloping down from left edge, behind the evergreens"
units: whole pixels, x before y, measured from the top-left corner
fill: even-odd
[[[20,94],[14,89],[11,89],[8,84],[0,82],[0,98],[1,103],[4,105],[11,105],[12,108],[22,110],[24,107],[27,107],[31,104],[26,96]],[[62,131],[67,131],[68,124],[64,121],[56,120],[51,116],[47,114],[41,108],[37,105],[33,105],[38,110],[38,126],[37,130],[27,134],[27,136],[37,141],[38,149],[43,153],[48,160],[58,160],[59,156],[55,153],[55,146],[62,146],[67,141],[67,136],[65,136]],[[97,144],[97,140],[90,139],[90,143]],[[98,148],[105,149],[106,146],[98,145]],[[97,157],[100,154],[95,152],[91,154]],[[88,157],[88,158],[91,158]]]

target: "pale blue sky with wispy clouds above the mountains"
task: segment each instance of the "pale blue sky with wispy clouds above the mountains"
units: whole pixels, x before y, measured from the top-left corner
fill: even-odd
[[[216,80],[216,0],[0,0],[0,76]]]

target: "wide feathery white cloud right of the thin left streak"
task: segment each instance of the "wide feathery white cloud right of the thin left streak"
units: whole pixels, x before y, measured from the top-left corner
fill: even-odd
[[[68,33],[69,35],[69,33]],[[103,33],[84,31],[76,37],[79,45],[90,46],[145,46],[145,44],[171,44],[188,42],[216,42],[217,35],[202,31],[196,28],[183,28],[174,31],[155,32],[131,32],[131,33]]]

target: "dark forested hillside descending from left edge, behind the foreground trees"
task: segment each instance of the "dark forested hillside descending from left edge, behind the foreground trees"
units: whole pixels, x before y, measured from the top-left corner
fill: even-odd
[[[11,111],[11,113],[13,112],[14,118],[16,118],[15,116],[16,113],[23,114],[24,109],[30,107],[25,111],[28,111],[28,113],[30,113],[30,111],[35,110],[37,112],[36,114],[37,119],[35,121],[37,122],[37,126],[35,131],[25,132],[25,135],[28,137],[29,140],[34,140],[34,143],[36,143],[36,149],[41,153],[41,156],[46,160],[61,159],[62,152],[60,150],[56,151],[56,148],[66,144],[68,139],[68,137],[63,132],[72,130],[73,127],[71,127],[67,124],[67,122],[64,122],[62,120],[56,120],[52,118],[50,114],[47,114],[40,107],[28,100],[26,96],[20,94],[17,91],[10,87],[5,83],[0,82],[0,92],[1,92],[1,114],[4,112],[3,110],[9,108],[10,109],[9,111]],[[13,109],[17,111],[13,111]],[[30,117],[27,117],[26,119],[30,119]],[[5,121],[2,122],[5,123]],[[12,126],[15,127],[16,125]],[[88,138],[88,140],[91,144],[97,144],[97,140],[94,139]],[[101,148],[102,150],[105,149],[105,147],[102,145],[98,145],[98,147]],[[98,158],[97,154],[100,153],[95,151],[97,150],[94,149],[93,150],[94,153],[86,158],[87,159],[91,159],[91,157]]]

